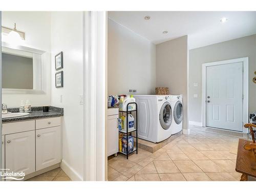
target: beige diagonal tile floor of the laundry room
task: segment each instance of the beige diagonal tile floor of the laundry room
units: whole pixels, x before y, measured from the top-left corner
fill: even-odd
[[[108,160],[109,181],[239,181],[235,170],[238,138],[202,131],[191,126],[155,153],[139,149],[138,154]]]

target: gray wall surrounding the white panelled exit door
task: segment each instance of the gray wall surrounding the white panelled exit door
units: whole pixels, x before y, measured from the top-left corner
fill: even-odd
[[[256,111],[256,34],[189,50],[189,120],[202,122],[202,63],[249,57],[249,112]],[[198,82],[198,87],[194,87]],[[198,98],[193,98],[198,94]]]

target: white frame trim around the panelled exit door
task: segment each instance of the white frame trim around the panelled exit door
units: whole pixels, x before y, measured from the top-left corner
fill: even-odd
[[[243,124],[248,122],[248,84],[249,84],[249,59],[248,57],[228,59],[216,62],[207,62],[202,65],[202,125],[206,127],[206,68],[209,66],[226,65],[234,62],[243,62]],[[216,128],[219,129],[219,128]],[[248,130],[243,127],[243,133]],[[230,130],[232,131],[232,130]],[[235,131],[237,132],[237,131]]]

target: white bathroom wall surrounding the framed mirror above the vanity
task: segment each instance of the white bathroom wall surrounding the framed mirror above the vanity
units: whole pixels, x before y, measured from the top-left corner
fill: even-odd
[[[51,51],[50,12],[2,11],[2,26],[25,32],[23,46]],[[2,101],[8,108],[20,105],[20,100],[29,99],[32,106],[49,105],[51,100],[51,63],[46,63],[46,94],[3,94]]]

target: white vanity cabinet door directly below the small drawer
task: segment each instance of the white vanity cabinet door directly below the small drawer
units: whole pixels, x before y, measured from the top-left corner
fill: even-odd
[[[60,162],[60,126],[36,130],[36,170]]]

